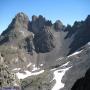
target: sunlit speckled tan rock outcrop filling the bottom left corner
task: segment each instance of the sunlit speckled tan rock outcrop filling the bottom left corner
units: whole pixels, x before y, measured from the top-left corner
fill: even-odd
[[[20,86],[20,81],[8,68],[4,62],[4,57],[0,53],[0,87]]]

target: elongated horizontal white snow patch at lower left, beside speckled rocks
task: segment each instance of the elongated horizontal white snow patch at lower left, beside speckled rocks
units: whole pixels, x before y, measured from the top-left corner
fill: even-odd
[[[26,70],[26,71],[24,71],[24,72],[25,72],[25,73],[20,73],[20,72],[16,73],[18,79],[24,79],[24,78],[26,78],[26,77],[28,77],[28,76],[39,75],[39,74],[43,73],[44,70],[41,70],[41,71],[39,71],[39,72],[34,72],[34,73],[32,73],[32,72],[30,72],[30,71],[28,71],[28,70]]]

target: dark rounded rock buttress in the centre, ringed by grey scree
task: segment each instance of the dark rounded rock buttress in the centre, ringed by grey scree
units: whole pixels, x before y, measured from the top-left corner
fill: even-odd
[[[36,52],[46,53],[55,48],[55,38],[50,27],[45,26],[39,33],[35,34],[34,44]]]

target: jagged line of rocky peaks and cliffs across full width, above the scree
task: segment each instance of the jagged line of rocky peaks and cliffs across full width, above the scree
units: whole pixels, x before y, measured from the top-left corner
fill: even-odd
[[[47,53],[56,47],[55,33],[62,34],[62,39],[68,41],[68,54],[78,50],[90,41],[90,15],[85,21],[75,21],[73,26],[63,25],[60,20],[54,24],[42,15],[32,16],[32,21],[23,12],[18,13],[8,28],[0,36],[0,45],[14,44],[28,52]],[[58,36],[57,36],[58,37]],[[23,43],[21,43],[21,42]],[[20,43],[19,43],[20,42]],[[58,42],[63,42],[58,40]],[[24,45],[20,45],[24,44]],[[65,46],[63,46],[66,48]],[[63,51],[64,52],[64,51]]]

